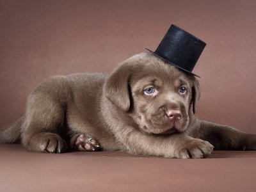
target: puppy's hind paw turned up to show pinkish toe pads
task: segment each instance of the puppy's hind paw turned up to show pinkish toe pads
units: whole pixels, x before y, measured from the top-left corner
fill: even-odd
[[[100,150],[100,145],[89,134],[76,133],[70,138],[70,147],[73,150],[79,151],[97,151]]]

